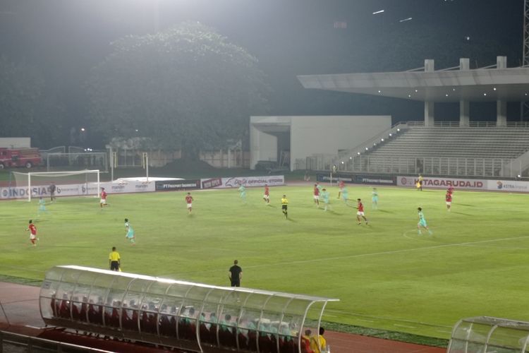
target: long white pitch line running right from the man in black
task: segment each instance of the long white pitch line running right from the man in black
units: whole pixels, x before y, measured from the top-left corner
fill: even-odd
[[[468,245],[474,245],[474,244],[487,244],[487,243],[494,243],[494,242],[497,242],[497,241],[509,241],[509,240],[518,240],[518,239],[529,239],[529,236],[501,238],[501,239],[489,239],[489,240],[481,240],[481,241],[467,241],[465,243],[452,243],[452,244],[443,244],[443,245],[434,245],[434,246],[422,246],[420,248],[391,250],[391,251],[380,251],[380,252],[377,252],[377,253],[358,253],[358,254],[355,254],[355,255],[348,255],[348,256],[333,256],[333,257],[328,257],[328,258],[313,258],[311,260],[284,261],[284,262],[269,263],[269,264],[265,264],[265,265],[246,266],[246,268],[264,268],[264,267],[272,267],[272,266],[292,265],[292,264],[296,264],[296,263],[315,263],[315,262],[320,262],[320,261],[343,260],[343,259],[346,259],[346,258],[365,258],[365,257],[368,257],[368,256],[394,255],[396,253],[411,253],[413,251],[442,249],[442,248],[449,248],[449,247],[455,247],[455,246],[468,246]]]

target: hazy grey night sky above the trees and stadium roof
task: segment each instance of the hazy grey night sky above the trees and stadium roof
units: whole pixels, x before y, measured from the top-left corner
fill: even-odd
[[[72,119],[83,119],[85,80],[110,42],[183,20],[211,26],[259,59],[274,90],[272,114],[422,119],[420,103],[303,90],[296,75],[399,71],[425,58],[442,68],[460,56],[487,66],[508,55],[518,66],[522,58],[523,0],[0,0],[0,50],[39,68]],[[471,119],[495,119],[489,108],[473,109]],[[457,112],[448,104],[436,117]]]

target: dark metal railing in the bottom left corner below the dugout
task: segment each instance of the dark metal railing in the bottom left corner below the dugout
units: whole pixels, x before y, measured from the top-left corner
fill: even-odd
[[[107,352],[102,349],[0,331],[0,352]]]

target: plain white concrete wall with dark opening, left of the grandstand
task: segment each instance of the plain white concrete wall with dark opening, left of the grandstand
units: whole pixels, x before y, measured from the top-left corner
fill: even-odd
[[[276,125],[274,125],[276,124]],[[276,160],[274,130],[291,131],[291,165],[314,154],[338,155],[391,128],[391,116],[252,116],[250,167],[257,160]],[[267,133],[269,132],[269,133]],[[263,143],[261,145],[261,143]]]

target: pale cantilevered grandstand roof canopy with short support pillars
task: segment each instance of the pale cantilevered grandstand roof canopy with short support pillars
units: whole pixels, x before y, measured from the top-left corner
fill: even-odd
[[[452,68],[434,70],[434,61],[401,72],[343,73],[298,76],[303,88],[395,97],[425,102],[425,121],[432,119],[434,102],[460,102],[461,121],[468,120],[468,102],[498,102],[498,124],[506,121],[506,102],[529,100],[529,67],[506,67],[506,56],[497,64],[470,69],[469,59]]]

